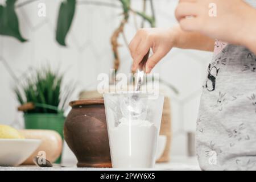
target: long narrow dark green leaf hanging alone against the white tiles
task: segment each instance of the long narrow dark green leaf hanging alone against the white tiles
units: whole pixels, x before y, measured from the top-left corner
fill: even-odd
[[[76,0],[65,0],[60,5],[57,20],[56,40],[62,46],[66,46],[65,38],[68,34],[69,28],[71,27],[75,9]]]

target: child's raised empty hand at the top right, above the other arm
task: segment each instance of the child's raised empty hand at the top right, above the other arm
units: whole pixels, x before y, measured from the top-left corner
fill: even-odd
[[[209,15],[210,3],[216,5],[216,16]],[[175,15],[185,31],[234,44],[244,44],[256,24],[256,10],[242,0],[180,0]]]

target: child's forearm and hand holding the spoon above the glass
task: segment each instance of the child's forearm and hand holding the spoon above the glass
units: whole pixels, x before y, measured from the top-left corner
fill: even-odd
[[[168,29],[143,28],[137,32],[129,46],[134,60],[133,71],[138,68],[148,49],[152,48],[153,55],[147,60],[146,73],[150,73],[173,47],[213,51],[214,40],[200,33],[185,32],[179,26]]]

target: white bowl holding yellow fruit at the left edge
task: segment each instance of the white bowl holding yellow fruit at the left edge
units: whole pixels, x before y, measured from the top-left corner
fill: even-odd
[[[40,143],[38,139],[0,139],[0,166],[19,166]]]

